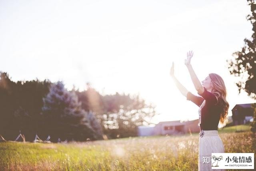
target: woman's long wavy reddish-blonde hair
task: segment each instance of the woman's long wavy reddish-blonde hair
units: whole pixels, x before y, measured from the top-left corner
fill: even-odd
[[[220,125],[221,127],[224,127],[228,122],[228,108],[229,108],[229,103],[226,100],[226,96],[227,96],[226,86],[224,84],[223,79],[218,74],[210,73],[209,77],[212,80],[212,84],[213,84],[212,93],[216,95],[218,99],[218,103],[220,103],[220,105],[222,106],[222,111],[220,114]]]

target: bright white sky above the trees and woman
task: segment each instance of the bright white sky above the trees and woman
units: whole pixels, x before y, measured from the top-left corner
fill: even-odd
[[[198,107],[186,100],[169,72],[175,62],[178,80],[197,94],[184,65],[200,81],[217,73],[228,89],[231,109],[253,103],[238,95],[237,78],[226,59],[250,38],[246,0],[0,0],[0,70],[13,81],[62,80],[68,89],[100,93],[140,93],[154,103],[153,122],[198,118]]]

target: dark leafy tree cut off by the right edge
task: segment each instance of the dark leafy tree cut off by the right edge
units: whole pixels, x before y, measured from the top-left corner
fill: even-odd
[[[235,58],[227,62],[230,74],[241,77],[241,80],[236,83],[239,93],[244,89],[250,97],[256,99],[256,4],[254,0],[247,1],[252,14],[249,14],[246,19],[252,24],[253,34],[250,40],[244,39],[245,45],[242,50],[234,52]]]

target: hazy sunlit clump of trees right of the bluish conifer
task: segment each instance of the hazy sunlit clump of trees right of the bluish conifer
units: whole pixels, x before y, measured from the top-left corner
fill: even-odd
[[[73,89],[74,90],[74,89]],[[74,90],[75,91],[75,90]],[[131,97],[116,92],[101,95],[87,83],[86,91],[75,91],[82,108],[92,111],[109,138],[137,136],[139,125],[148,125],[157,115],[153,104],[146,104],[139,95]]]

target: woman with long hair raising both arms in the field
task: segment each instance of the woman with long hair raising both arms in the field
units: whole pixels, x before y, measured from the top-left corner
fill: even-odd
[[[192,56],[193,52],[189,51],[185,65],[200,96],[192,94],[176,79],[174,76],[174,63],[172,63],[170,75],[182,95],[200,107],[198,110],[200,123],[198,170],[208,171],[212,168],[212,153],[224,153],[224,145],[218,135],[218,124],[226,125],[229,104],[226,101],[226,86],[222,78],[218,74],[211,73],[201,84],[190,64]],[[207,162],[207,157],[210,158],[210,162]]]

